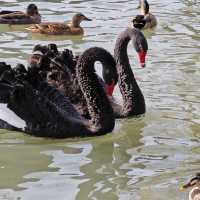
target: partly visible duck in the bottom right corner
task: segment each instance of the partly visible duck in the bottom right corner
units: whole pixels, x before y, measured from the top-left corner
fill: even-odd
[[[181,190],[192,187],[189,193],[189,200],[200,200],[200,173],[197,173],[195,177],[189,180],[188,183],[181,187]]]

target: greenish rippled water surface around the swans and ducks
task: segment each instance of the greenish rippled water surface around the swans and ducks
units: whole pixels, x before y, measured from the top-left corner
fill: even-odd
[[[25,10],[30,1],[1,0]],[[0,61],[26,64],[35,44],[55,42],[80,53],[91,46],[113,52],[117,34],[139,12],[136,0],[34,1],[43,21],[83,12],[84,37],[32,35],[23,26],[0,26]],[[118,120],[105,136],[50,140],[0,131],[0,199],[187,199],[179,187],[200,165],[200,2],[149,0],[158,18],[146,31],[147,67],[133,70],[144,93],[145,116]],[[119,92],[116,91],[116,98]]]

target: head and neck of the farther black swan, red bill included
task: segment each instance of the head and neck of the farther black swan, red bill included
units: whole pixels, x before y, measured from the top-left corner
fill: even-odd
[[[145,56],[148,50],[143,33],[137,28],[127,28],[117,38],[114,58],[119,76],[119,88],[123,97],[123,106],[117,108],[118,117],[128,117],[145,113],[144,96],[135,80],[127,55],[127,46],[132,41],[139,55],[141,66],[145,66]],[[115,110],[115,109],[114,109]]]

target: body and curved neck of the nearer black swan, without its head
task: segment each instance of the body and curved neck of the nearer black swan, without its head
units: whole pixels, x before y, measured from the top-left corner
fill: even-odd
[[[91,120],[83,119],[67,97],[41,81],[40,74],[34,74],[37,66],[30,68],[27,76],[22,73],[25,68],[20,65],[17,70],[10,69],[1,74],[0,102],[23,119],[25,127],[15,129],[9,121],[3,119],[0,120],[0,127],[52,138],[97,136],[111,132],[115,117],[108,97],[94,73],[96,61],[115,66],[110,53],[98,47],[86,50],[76,65],[78,84],[84,91]]]

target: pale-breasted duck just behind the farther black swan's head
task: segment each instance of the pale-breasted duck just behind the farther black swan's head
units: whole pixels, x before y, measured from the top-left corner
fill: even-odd
[[[146,24],[144,29],[146,28],[153,28],[157,25],[156,17],[149,12],[149,3],[147,0],[139,0],[139,8],[141,11],[141,15],[144,16]]]

